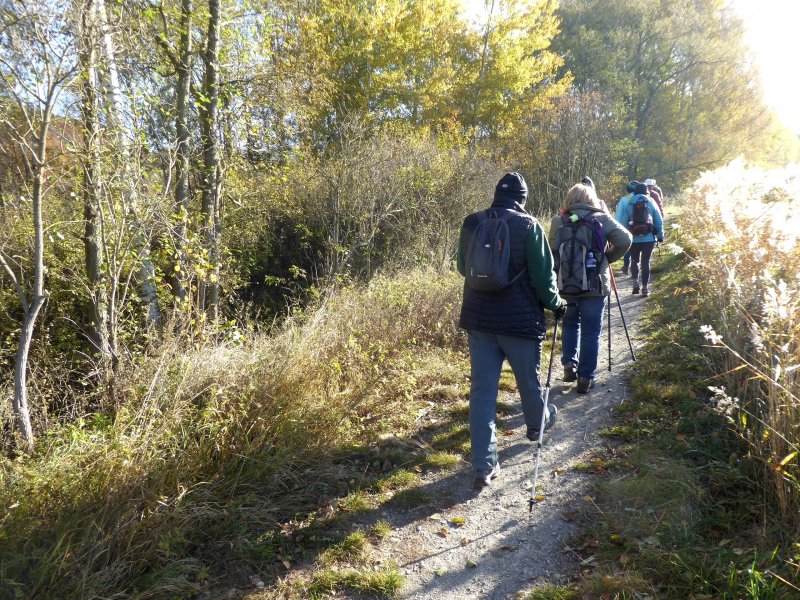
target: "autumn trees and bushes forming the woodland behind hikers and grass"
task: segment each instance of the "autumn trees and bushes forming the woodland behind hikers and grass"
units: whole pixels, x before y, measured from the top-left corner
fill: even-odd
[[[508,0],[465,15],[458,0],[2,0],[8,465],[84,435],[154,435],[164,373],[285,335],[376,274],[438,289],[461,220],[506,171],[544,217],[587,174],[613,205],[629,179],[669,196],[740,156],[800,156],[722,0]],[[455,339],[452,318],[434,317],[419,331]],[[392,354],[379,341],[343,343]],[[271,369],[300,372],[290,358]],[[343,391],[347,368],[326,364],[323,394]],[[203,398],[228,396],[195,384],[201,416],[181,419],[199,431]],[[277,444],[264,427],[245,454]],[[206,450],[204,468],[236,454]],[[115,460],[143,460],[125,452]],[[113,489],[97,485],[97,498]]]

